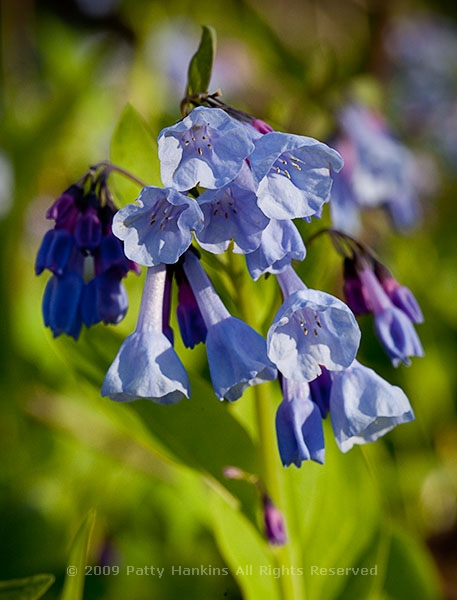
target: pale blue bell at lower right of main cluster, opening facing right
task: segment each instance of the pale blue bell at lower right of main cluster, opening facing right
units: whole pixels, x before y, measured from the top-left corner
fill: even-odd
[[[342,452],[354,444],[373,442],[397,425],[414,420],[403,390],[357,360],[330,376],[330,418]]]

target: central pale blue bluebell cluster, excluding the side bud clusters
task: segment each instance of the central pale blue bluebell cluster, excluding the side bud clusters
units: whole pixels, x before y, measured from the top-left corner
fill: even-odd
[[[148,274],[137,328],[122,344],[102,394],[158,403],[190,396],[169,322],[175,280],[181,337],[189,348],[205,343],[216,396],[233,402],[247,387],[278,378],[284,465],[323,462],[327,413],[343,451],[413,413],[401,390],[356,361],[360,329],[351,309],[309,289],[292,267],[305,256],[294,219],[321,216],[340,155],[311,138],[232,114],[199,106],[165,128],[159,135],[165,187],[145,187],[114,217],[126,255]],[[207,252],[230,246],[243,254],[254,280],[276,276],[283,303],[266,339],[229,313],[194,241]]]

